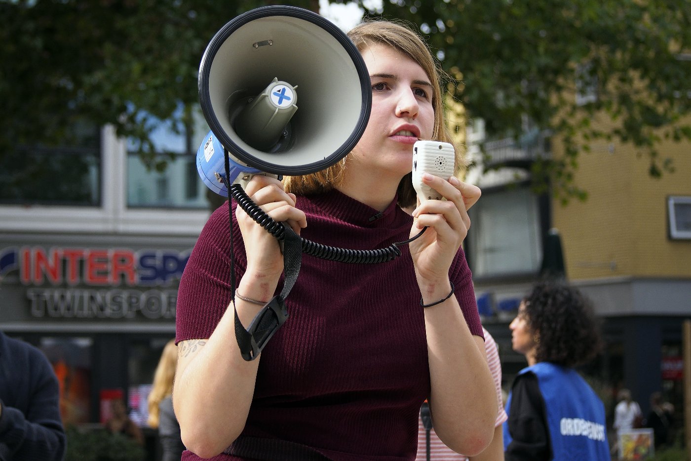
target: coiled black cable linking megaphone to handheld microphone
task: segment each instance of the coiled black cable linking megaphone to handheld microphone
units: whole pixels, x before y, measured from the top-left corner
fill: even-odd
[[[276,237],[279,242],[285,239],[285,230],[283,226],[276,222],[272,217],[267,215],[252,199],[247,196],[243,187],[240,184],[232,184],[229,187],[230,195],[238,202],[238,206],[242,208],[245,213],[254,221],[265,228],[268,233]],[[424,231],[423,228],[415,237],[412,237],[404,242],[396,242],[386,248],[378,248],[376,250],[352,250],[348,248],[337,248],[334,246],[322,245],[311,240],[303,239],[302,248],[303,253],[314,257],[319,257],[323,260],[336,262],[350,262],[354,264],[377,264],[379,262],[387,262],[394,260],[401,255],[399,246],[409,244],[417,239]]]

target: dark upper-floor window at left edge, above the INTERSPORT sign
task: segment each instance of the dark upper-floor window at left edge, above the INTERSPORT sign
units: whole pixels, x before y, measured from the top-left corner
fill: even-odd
[[[100,142],[98,127],[77,123],[59,145],[0,153],[0,204],[100,206]]]

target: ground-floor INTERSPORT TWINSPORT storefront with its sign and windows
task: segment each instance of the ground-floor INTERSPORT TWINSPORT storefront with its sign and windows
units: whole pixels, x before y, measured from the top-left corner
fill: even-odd
[[[0,325],[39,346],[60,380],[66,424],[102,422],[113,391],[145,425],[144,402],[175,335],[193,237],[0,234]],[[116,392],[117,393],[117,392]]]

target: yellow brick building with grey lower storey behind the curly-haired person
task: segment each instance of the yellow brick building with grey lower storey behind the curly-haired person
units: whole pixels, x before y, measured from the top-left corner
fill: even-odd
[[[661,157],[676,171],[658,179],[632,146],[591,144],[573,178],[588,197],[562,205],[528,186],[536,156],[561,155],[558,139],[487,144],[489,161],[503,166],[470,172],[482,199],[471,210],[468,257],[485,326],[500,344],[507,390],[526,365],[511,351],[509,323],[545,257],[554,256],[548,245],[556,229],[566,278],[593,300],[606,341],[583,372],[610,412],[619,388],[632,390],[644,413],[659,391],[681,421],[682,324],[691,318],[690,149],[662,143]]]

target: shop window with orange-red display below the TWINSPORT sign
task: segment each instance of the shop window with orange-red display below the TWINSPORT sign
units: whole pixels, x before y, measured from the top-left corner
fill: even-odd
[[[39,348],[53,365],[65,426],[85,424],[91,416],[91,338],[44,336]]]

